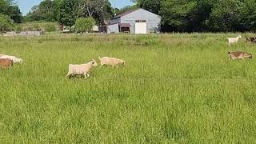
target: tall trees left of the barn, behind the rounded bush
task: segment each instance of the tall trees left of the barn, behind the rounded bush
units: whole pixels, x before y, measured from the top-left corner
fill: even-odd
[[[103,24],[113,16],[114,10],[108,0],[44,0],[32,8],[25,20],[73,26],[77,18],[92,17],[98,24]]]

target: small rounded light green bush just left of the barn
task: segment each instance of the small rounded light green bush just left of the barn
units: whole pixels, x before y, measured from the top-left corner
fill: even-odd
[[[90,32],[95,24],[94,18],[78,18],[75,22],[75,29],[77,32]]]

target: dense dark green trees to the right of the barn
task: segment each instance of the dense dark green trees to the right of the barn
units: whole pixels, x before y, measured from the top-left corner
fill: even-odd
[[[162,17],[162,31],[256,31],[256,0],[131,0]]]

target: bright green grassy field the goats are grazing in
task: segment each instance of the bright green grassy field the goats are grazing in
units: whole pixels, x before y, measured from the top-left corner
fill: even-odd
[[[237,35],[2,37],[24,63],[0,70],[0,142],[255,143],[256,59],[227,53],[256,45],[229,47]],[[64,79],[98,56],[126,66]]]

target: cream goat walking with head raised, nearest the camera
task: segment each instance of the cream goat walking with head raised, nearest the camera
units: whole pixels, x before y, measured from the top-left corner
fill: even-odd
[[[70,64],[69,66],[69,72],[66,74],[66,78],[67,77],[71,77],[74,76],[76,74],[78,75],[84,75],[85,78],[89,78],[89,71],[93,66],[97,66],[97,62],[92,59],[90,62],[86,63],[86,64],[82,64],[82,65],[73,65]]]

